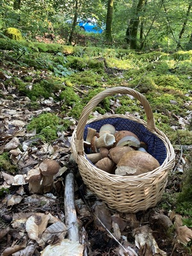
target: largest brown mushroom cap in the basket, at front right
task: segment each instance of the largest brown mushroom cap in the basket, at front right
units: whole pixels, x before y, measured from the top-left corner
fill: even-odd
[[[130,151],[125,153],[116,165],[116,175],[139,175],[159,167],[157,159],[147,152]]]

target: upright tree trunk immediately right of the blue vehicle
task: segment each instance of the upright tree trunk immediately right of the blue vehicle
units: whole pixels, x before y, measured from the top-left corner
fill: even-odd
[[[106,40],[111,43],[112,38],[112,22],[113,22],[113,0],[108,0],[108,13],[106,19]]]

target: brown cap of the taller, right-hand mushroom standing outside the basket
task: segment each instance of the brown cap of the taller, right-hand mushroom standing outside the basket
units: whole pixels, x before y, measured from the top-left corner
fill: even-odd
[[[45,159],[40,163],[40,172],[44,176],[54,176],[60,170],[60,164],[58,164],[55,160]]]

